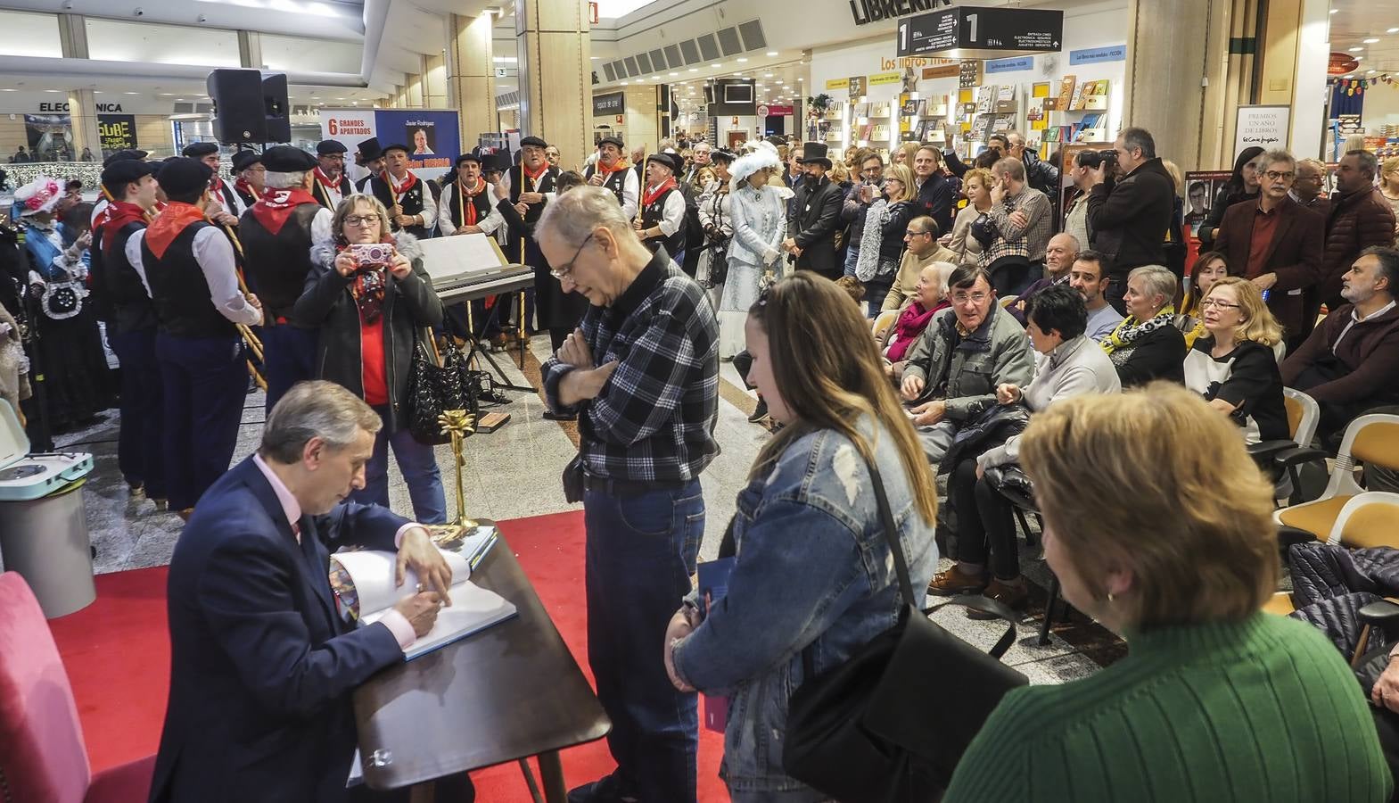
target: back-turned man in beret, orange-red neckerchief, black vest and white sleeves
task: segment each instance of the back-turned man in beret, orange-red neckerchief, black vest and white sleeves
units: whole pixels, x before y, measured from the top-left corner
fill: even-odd
[[[126,259],[154,301],[165,400],[165,490],[182,515],[234,456],[248,390],[235,325],[262,323],[262,304],[238,290],[234,246],[206,220],[210,178],[200,159],[173,158],[157,180],[168,200],[150,228],[126,241]]]

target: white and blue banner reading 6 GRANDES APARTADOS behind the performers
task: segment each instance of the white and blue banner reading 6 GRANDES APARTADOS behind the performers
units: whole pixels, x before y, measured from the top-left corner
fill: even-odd
[[[432,179],[452,171],[462,154],[462,134],[455,109],[322,109],[320,138],[344,143],[354,151],[378,137],[379,147],[409,148],[409,169]]]

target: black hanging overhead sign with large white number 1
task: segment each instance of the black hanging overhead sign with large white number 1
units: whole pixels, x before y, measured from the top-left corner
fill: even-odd
[[[1006,50],[1055,53],[1063,42],[1063,11],[963,6],[898,24],[898,55],[997,56]]]

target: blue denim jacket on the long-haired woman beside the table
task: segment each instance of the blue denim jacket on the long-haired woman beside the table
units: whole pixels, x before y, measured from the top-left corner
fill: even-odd
[[[860,425],[869,436],[872,421]],[[922,606],[937,565],[933,525],[914,506],[893,436],[874,443],[890,509]],[[737,562],[727,595],[676,646],[679,674],[729,695],[720,774],[733,792],[806,789],[782,772],[788,701],[803,681],[844,663],[898,621],[898,579],[880,527],[870,474],[855,445],[832,429],[797,438],[775,469],[739,494]]]

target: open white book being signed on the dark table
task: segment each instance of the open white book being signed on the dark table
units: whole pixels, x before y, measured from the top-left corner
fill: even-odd
[[[480,632],[515,616],[515,606],[498,593],[471,582],[474,569],[495,544],[495,527],[429,526],[434,543],[452,567],[452,604],[438,611],[436,625],[407,649],[404,659]],[[417,593],[418,578],[407,571],[395,586],[395,553],[376,550],[341,551],[330,555],[330,588],[341,607],[362,624],[383,618],[403,597]]]

